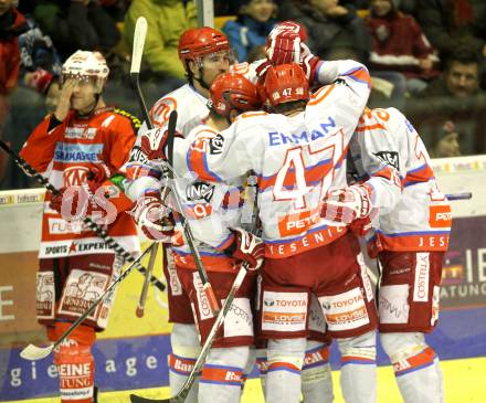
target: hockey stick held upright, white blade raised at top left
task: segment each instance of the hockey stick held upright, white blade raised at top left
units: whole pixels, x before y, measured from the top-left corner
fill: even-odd
[[[148,114],[147,104],[145,103],[144,94],[141,93],[140,83],[139,83],[141,55],[144,53],[144,45],[145,45],[146,35],[147,35],[147,20],[145,19],[145,17],[139,17],[137,19],[137,23],[135,25],[135,33],[134,33],[134,49],[133,49],[133,53],[131,53],[130,78],[131,78],[131,84],[134,86],[134,91],[135,91],[137,98],[138,98],[138,104],[140,105],[141,113],[144,115],[144,119],[147,124],[147,127],[149,129],[152,129],[154,124],[150,119],[150,115]],[[192,234],[192,231],[189,227],[189,225],[187,225],[187,220],[183,216],[182,203],[180,201],[178,193],[176,192],[176,189],[173,189],[175,174],[173,174],[173,170],[172,170],[171,159],[172,159],[172,155],[173,155],[172,153],[172,151],[173,151],[173,134],[176,131],[176,124],[177,124],[177,110],[172,110],[172,113],[169,116],[169,125],[168,125],[168,131],[169,131],[168,132],[168,136],[169,136],[168,156],[169,156],[170,161],[166,161],[166,165],[165,165],[167,168],[167,172],[168,172],[167,179],[169,179],[169,183],[168,183],[169,185],[165,187],[163,194],[161,198],[162,198],[162,200],[166,199],[166,197],[167,197],[166,191],[167,190],[170,190],[173,194],[176,209],[179,212],[180,222],[181,222],[181,225],[182,225],[182,229],[184,232],[186,241],[188,243],[189,248],[191,250],[191,254],[194,258],[196,267],[198,268],[199,276],[201,277],[204,295],[208,298],[208,303],[210,305],[210,308],[211,308],[213,315],[218,315],[218,312],[219,312],[218,299],[215,298],[214,290],[212,289],[211,283],[209,282],[208,274],[207,274],[204,266],[202,264],[201,255],[199,254],[199,251],[196,247],[194,236]]]

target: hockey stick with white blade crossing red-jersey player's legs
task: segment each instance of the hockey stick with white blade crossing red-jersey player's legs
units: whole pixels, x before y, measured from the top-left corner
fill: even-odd
[[[140,259],[148,253],[148,251],[152,250],[155,245],[157,245],[157,244],[155,244],[155,243],[151,244],[149,247],[147,247],[140,254],[140,256],[138,256],[136,259],[134,259],[134,262],[131,262],[131,264],[125,269],[125,272],[123,272],[110,284],[110,286],[108,288],[106,288],[103,291],[103,294],[93,301],[91,307],[87,308],[85,310],[85,312],[82,316],[80,316],[73,322],[73,325],[71,325],[71,327],[64,333],[61,335],[61,337],[55,342],[51,343],[47,347],[38,347],[34,344],[29,344],[20,352],[20,357],[22,357],[25,360],[31,360],[31,361],[40,360],[42,358],[47,357],[52,352],[52,350],[54,350],[59,344],[61,344],[74,331],[74,329],[76,329],[96,309],[96,307],[99,305],[99,303],[106,298],[106,296],[115,288],[115,286],[118,283],[120,283],[126,276],[128,276],[130,274],[130,272],[135,268],[135,266],[138,264],[138,262],[140,262]]]

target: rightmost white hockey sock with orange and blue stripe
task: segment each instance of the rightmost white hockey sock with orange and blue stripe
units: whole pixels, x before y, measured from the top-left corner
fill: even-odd
[[[425,343],[423,333],[383,333],[381,342],[385,351],[389,348],[394,350],[389,357],[405,403],[444,402],[443,375],[439,358]]]

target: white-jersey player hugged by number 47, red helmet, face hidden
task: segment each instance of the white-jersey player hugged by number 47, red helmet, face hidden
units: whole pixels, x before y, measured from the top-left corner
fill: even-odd
[[[236,114],[261,107],[256,86],[234,73],[222,74],[213,82],[210,100],[211,113],[208,119],[191,130],[188,141],[201,136],[214,137],[230,126]],[[160,142],[165,142],[165,136],[169,135],[163,128],[144,134],[141,145],[142,148],[147,147],[146,153],[166,159],[159,147]],[[212,183],[191,176],[187,170],[177,173],[176,188],[182,201],[182,213],[188,218],[194,238],[201,241],[198,248],[218,300],[226,298],[242,261],[251,264],[251,272],[212,343],[199,381],[198,402],[237,403],[241,399],[243,369],[249,361],[250,346],[253,344],[255,274],[264,256],[262,241],[239,227],[243,203],[242,185],[246,177],[236,177],[226,183]],[[191,300],[201,343],[204,343],[215,316],[208,309],[189,247],[181,237],[178,241],[175,236],[173,240],[178,277]]]

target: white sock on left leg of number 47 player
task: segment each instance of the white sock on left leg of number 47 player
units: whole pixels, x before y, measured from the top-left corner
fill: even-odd
[[[298,403],[300,401],[300,370],[305,350],[305,338],[268,340],[266,403]]]

